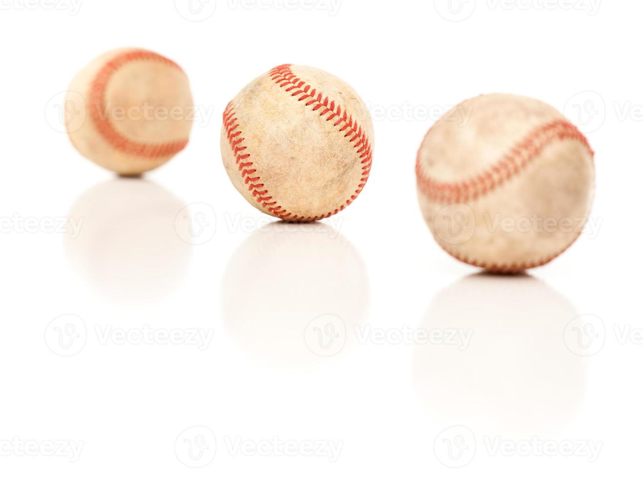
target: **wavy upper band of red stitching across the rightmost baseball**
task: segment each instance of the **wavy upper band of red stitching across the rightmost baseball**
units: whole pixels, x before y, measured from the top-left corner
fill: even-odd
[[[572,123],[566,120],[556,120],[534,130],[521,143],[511,148],[509,153],[505,154],[500,161],[493,164],[485,172],[467,181],[440,182],[428,175],[424,175],[420,166],[422,151],[422,148],[420,148],[415,163],[417,184],[428,199],[440,204],[455,204],[476,200],[520,173],[554,139],[575,139],[588,148],[592,157],[594,155],[587,138]]]

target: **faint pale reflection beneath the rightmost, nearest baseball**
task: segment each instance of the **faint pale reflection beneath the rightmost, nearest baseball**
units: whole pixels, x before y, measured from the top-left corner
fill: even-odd
[[[415,389],[450,425],[516,436],[559,430],[586,390],[586,362],[564,340],[577,315],[527,274],[468,276],[433,298],[421,328],[471,330],[469,345],[416,346]]]

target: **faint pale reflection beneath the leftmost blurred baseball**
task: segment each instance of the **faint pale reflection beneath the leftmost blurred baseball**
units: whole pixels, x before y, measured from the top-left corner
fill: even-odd
[[[190,245],[175,226],[183,208],[154,182],[118,177],[98,184],[69,213],[80,224],[66,236],[69,265],[111,301],[157,301],[176,289],[188,267]]]

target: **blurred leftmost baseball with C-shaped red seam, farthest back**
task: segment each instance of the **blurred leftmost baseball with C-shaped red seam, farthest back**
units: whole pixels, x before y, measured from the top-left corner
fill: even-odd
[[[104,168],[136,175],[185,148],[192,94],[181,67],[143,49],[104,53],[74,78],[65,102],[71,142]]]

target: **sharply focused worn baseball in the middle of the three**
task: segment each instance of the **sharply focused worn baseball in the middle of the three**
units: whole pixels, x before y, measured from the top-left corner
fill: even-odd
[[[221,154],[235,188],[289,221],[338,213],[364,188],[373,126],[349,85],[283,65],[246,86],[223,114]]]

